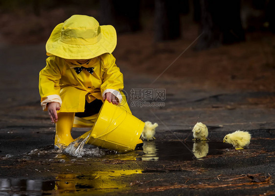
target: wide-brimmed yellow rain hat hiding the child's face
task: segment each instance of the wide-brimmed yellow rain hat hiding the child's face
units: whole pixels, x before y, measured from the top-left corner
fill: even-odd
[[[58,24],[46,42],[47,56],[63,59],[92,59],[112,53],[116,32],[112,25],[99,25],[93,17],[73,15]]]

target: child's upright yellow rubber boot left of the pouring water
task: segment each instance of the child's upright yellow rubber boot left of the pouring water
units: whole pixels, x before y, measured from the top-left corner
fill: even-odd
[[[74,112],[60,112],[57,114],[58,120],[55,124],[54,145],[57,148],[66,147],[73,141],[70,131],[73,125]]]

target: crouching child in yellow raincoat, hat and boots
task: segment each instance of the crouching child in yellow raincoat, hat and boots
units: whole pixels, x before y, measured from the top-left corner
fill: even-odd
[[[56,123],[57,148],[73,141],[72,127],[92,127],[103,100],[121,101],[123,75],[112,55],[115,46],[115,28],[89,16],[73,15],[53,29],[39,90],[43,110]]]

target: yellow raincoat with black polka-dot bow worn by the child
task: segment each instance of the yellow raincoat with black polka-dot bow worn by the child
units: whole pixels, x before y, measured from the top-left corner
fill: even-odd
[[[93,73],[83,69],[77,74],[73,68],[81,66],[94,67]],[[46,67],[39,74],[41,102],[51,96],[61,99],[62,105],[58,112],[84,112],[85,99],[89,103],[96,98],[102,100],[103,93],[108,89],[118,92],[123,89],[123,75],[115,64],[114,56],[108,53],[81,65],[50,56],[46,59]]]

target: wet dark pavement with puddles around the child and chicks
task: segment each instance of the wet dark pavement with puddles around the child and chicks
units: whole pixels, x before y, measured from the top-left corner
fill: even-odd
[[[121,63],[130,98],[132,88],[166,89],[164,107],[131,107],[159,124],[156,139],[126,154],[85,146],[73,157],[54,150],[55,128],[39,104],[44,45],[1,45],[0,59],[7,65],[0,74],[0,195],[275,194],[272,91],[192,87],[167,76],[151,84],[156,76]],[[207,141],[192,140],[198,119],[208,127]],[[239,129],[252,134],[243,150],[223,143]],[[73,137],[85,131],[75,128]]]

